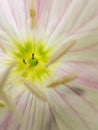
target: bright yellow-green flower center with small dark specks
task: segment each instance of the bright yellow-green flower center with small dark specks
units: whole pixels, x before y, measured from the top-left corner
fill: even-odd
[[[24,43],[14,41],[16,49],[12,51],[15,59],[15,73],[21,73],[23,78],[29,81],[42,82],[49,74],[49,69],[45,67],[49,59],[51,48],[46,48],[44,40],[27,38]]]

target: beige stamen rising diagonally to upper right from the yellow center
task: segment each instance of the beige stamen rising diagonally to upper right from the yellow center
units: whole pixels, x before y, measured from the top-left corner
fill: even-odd
[[[74,45],[76,41],[69,41],[65,45],[62,46],[47,62],[45,65],[48,67],[49,65],[53,64],[55,61],[59,60],[62,56],[64,56]]]

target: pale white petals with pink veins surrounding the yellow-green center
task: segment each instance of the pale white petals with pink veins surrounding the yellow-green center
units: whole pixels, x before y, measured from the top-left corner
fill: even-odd
[[[0,87],[10,48],[16,49],[13,39],[22,44],[27,34],[45,38],[46,47],[54,45],[51,57],[58,56],[68,42],[76,43],[56,61],[54,74],[45,79],[46,102],[9,74],[4,91],[23,121],[1,102],[0,130],[98,130],[98,0],[1,1]],[[47,88],[68,74],[77,78]]]

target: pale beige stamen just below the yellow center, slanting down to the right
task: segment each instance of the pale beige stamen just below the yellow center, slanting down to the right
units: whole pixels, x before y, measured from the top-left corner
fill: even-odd
[[[47,97],[45,95],[45,93],[43,93],[36,85],[32,84],[31,82],[29,82],[26,79],[22,79],[22,81],[24,82],[24,84],[26,85],[26,87],[35,95],[37,96],[39,99],[46,101]]]

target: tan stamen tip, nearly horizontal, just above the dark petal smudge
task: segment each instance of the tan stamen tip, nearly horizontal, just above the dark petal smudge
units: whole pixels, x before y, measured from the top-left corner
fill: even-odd
[[[50,84],[48,84],[47,87],[54,88],[60,84],[71,82],[71,81],[75,80],[76,78],[77,78],[77,76],[75,74],[65,75],[65,76],[51,82]]]

